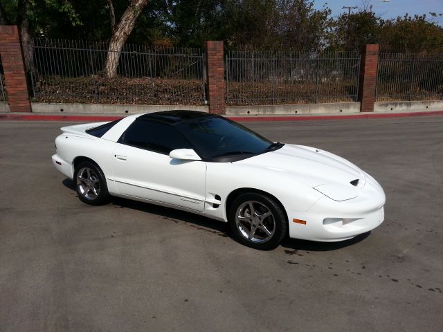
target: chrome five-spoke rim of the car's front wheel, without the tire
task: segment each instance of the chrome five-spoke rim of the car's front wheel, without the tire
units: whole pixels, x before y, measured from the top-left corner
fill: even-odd
[[[275,232],[275,219],[271,210],[257,201],[242,203],[235,213],[235,223],[240,234],[255,243],[269,241]]]

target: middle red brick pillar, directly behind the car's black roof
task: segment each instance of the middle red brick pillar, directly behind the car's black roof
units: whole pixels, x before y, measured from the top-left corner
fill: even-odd
[[[206,42],[206,75],[208,82],[209,113],[224,114],[225,85],[223,42]]]

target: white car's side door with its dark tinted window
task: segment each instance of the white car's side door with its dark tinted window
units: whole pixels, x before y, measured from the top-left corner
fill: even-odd
[[[170,124],[135,120],[114,150],[114,181],[123,196],[204,211],[206,163],[177,160],[173,149],[192,149]]]

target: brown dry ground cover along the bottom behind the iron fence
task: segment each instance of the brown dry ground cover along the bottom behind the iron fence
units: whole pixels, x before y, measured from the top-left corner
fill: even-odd
[[[4,80],[3,80],[4,89]],[[405,84],[379,84],[377,101],[442,100],[439,91],[417,86],[409,91]],[[438,89],[437,89],[438,90]],[[6,96],[6,89],[4,89]],[[35,83],[34,102],[102,104],[204,104],[201,80],[116,77],[98,75],[39,79]],[[319,82],[228,82],[228,105],[314,104],[317,102],[353,102],[355,80]],[[0,100],[2,93],[0,91]],[[5,98],[6,100],[6,98]]]

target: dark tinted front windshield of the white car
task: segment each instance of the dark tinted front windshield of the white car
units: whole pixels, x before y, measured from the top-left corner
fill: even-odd
[[[177,128],[206,160],[240,156],[239,160],[270,151],[269,148],[275,146],[241,124],[219,116],[180,122]]]

